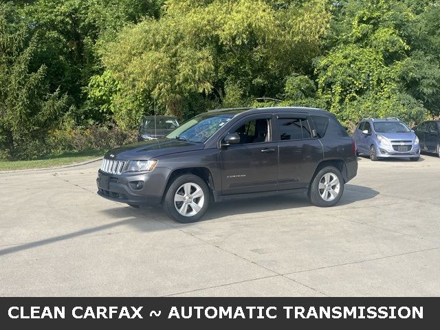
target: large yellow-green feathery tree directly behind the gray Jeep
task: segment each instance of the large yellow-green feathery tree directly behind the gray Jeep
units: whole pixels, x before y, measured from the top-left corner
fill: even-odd
[[[170,0],[161,19],[124,28],[102,51],[118,95],[135,100],[128,110],[111,98],[118,123],[133,126],[154,102],[186,117],[209,104],[282,96],[285,76],[312,72],[329,13],[323,0],[276,2]]]

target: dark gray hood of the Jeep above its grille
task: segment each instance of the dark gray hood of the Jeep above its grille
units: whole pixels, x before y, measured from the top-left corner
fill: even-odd
[[[203,143],[162,138],[120,146],[107,152],[105,157],[120,160],[151,159],[171,153],[200,150],[204,146]]]

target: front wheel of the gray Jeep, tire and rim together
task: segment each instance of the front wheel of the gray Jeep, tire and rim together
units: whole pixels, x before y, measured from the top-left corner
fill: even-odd
[[[208,209],[210,191],[197,175],[185,174],[174,179],[164,200],[166,214],[181,223],[198,221]]]

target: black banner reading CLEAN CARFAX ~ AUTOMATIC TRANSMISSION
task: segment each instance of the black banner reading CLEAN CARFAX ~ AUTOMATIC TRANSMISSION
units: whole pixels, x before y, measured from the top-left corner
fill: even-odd
[[[440,298],[0,298],[12,327],[428,326]]]

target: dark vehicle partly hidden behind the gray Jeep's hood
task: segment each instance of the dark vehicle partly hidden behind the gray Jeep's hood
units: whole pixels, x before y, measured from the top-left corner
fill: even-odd
[[[142,120],[137,133],[137,141],[155,140],[164,137],[170,131],[177,129],[179,122],[177,118],[168,115],[148,115]]]

